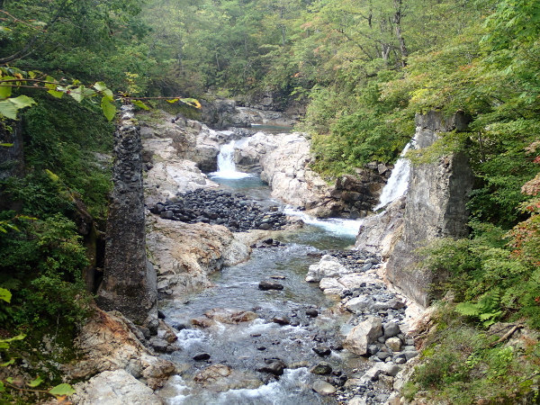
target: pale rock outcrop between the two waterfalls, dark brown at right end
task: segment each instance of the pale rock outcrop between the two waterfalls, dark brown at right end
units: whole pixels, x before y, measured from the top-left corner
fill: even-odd
[[[327,184],[311,170],[310,141],[300,132],[255,135],[237,142],[235,163],[260,172],[272,195],[318,217],[362,218],[378,201],[391,171],[373,164]]]

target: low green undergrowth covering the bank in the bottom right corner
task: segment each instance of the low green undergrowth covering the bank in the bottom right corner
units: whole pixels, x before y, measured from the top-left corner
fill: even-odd
[[[445,328],[430,334],[404,389],[406,398],[469,404],[477,401],[531,401],[538,390],[537,342],[524,347],[494,345],[499,338],[464,325],[451,304],[439,308],[437,322]]]

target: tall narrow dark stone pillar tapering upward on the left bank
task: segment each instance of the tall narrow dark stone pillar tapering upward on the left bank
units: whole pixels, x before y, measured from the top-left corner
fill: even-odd
[[[107,220],[103,283],[98,305],[121,311],[136,324],[157,329],[156,272],[146,257],[142,158],[139,128],[122,107],[114,135],[113,190]]]

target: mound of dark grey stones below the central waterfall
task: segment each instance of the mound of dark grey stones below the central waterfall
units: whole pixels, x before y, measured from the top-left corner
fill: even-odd
[[[224,225],[231,231],[282,229],[284,212],[266,211],[260,204],[240,193],[198,189],[179,193],[166,202],[157,202],[150,211],[166,220]]]

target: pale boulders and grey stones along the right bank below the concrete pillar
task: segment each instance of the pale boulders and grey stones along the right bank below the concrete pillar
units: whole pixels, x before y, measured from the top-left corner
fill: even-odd
[[[366,367],[348,375],[343,387],[333,383],[336,399],[386,402],[394,386],[402,385],[403,365],[419,355],[414,339],[406,333],[407,305],[376,275],[380,257],[351,250],[327,253],[318,265],[310,266],[306,280],[319,282],[324,293],[339,295],[341,308],[356,315],[341,329],[343,347],[369,360]]]

